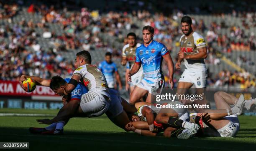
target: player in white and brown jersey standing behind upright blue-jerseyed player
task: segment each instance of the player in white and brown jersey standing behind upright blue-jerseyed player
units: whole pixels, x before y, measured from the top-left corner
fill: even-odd
[[[133,64],[136,59],[136,48],[140,47],[141,44],[136,42],[136,35],[133,32],[128,33],[127,35],[128,44],[123,47],[123,56],[121,64],[125,66],[126,64],[126,73],[125,73],[125,89],[128,91],[130,87],[130,93],[133,92],[134,87],[141,82],[143,78],[142,67],[139,71],[131,77],[130,85],[128,84],[128,73],[133,67]]]

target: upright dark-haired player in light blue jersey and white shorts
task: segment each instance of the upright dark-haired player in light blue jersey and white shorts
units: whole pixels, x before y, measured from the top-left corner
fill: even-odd
[[[169,84],[171,84],[171,88],[173,87],[173,62],[169,51],[162,43],[153,40],[153,27],[143,27],[142,34],[144,43],[136,49],[136,61],[128,74],[128,81],[131,81],[131,76],[138,72],[141,64],[144,77],[131,93],[131,104],[134,104],[147,93],[154,96],[161,93],[164,88],[164,76],[161,71],[163,58],[169,70]],[[151,95],[148,95],[146,102],[151,102]]]

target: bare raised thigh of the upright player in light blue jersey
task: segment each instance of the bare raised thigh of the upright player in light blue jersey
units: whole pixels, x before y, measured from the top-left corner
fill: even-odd
[[[135,87],[133,92],[131,93],[131,97],[129,100],[130,104],[135,104],[136,102],[140,101],[140,99],[147,93],[148,93],[148,90],[142,89],[140,87]]]

